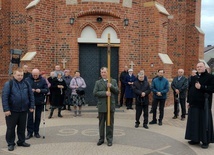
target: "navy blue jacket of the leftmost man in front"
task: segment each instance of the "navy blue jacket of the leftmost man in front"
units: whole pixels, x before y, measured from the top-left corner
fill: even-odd
[[[2,90],[3,111],[24,112],[34,109],[34,96],[31,86],[29,84],[27,86],[24,80],[18,82],[13,79],[12,82],[12,87],[7,81]]]

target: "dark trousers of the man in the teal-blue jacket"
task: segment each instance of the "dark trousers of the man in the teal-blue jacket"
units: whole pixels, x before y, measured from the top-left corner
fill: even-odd
[[[153,100],[153,106],[152,106],[152,110],[153,110],[153,121],[157,122],[157,106],[159,104],[159,122],[162,122],[163,120],[163,116],[164,116],[164,107],[165,107],[165,99],[154,99]]]

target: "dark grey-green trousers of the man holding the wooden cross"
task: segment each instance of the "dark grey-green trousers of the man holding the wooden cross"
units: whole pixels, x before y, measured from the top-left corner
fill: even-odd
[[[107,126],[107,113],[99,112],[99,141],[105,140],[105,128],[106,128],[106,139],[108,142],[113,141],[113,130],[114,130],[114,113],[110,113],[110,126]]]

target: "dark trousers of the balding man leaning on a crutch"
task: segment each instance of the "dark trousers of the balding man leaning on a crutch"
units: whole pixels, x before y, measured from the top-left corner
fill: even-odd
[[[39,133],[39,125],[41,122],[41,114],[44,105],[36,105],[34,112],[35,112],[35,119],[34,119],[34,112],[28,112],[28,121],[27,121],[27,131],[28,134],[38,134]]]

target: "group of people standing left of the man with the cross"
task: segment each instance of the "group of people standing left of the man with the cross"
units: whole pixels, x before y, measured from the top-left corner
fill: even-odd
[[[84,94],[77,94],[78,88],[86,88],[85,81],[80,77],[80,72],[75,71],[74,77],[70,71],[61,71],[60,66],[55,66],[55,71],[46,77],[44,71],[33,69],[28,72],[28,66],[17,68],[13,72],[13,78],[7,81],[2,91],[2,105],[5,112],[7,125],[6,141],[8,150],[13,151],[15,146],[15,129],[17,126],[18,146],[29,147],[25,140],[31,137],[40,138],[39,126],[42,111],[45,110],[48,97],[51,105],[49,119],[54,110],[58,109],[58,117],[65,104],[74,105],[74,115],[81,115],[81,107],[84,104]],[[27,136],[25,129],[27,127]]]

